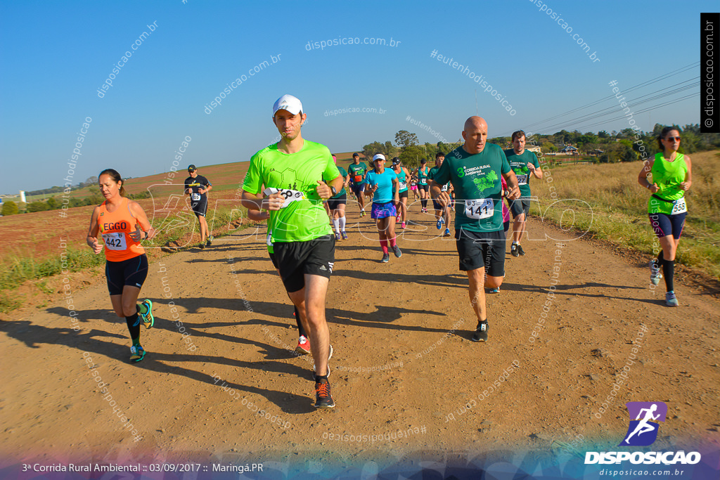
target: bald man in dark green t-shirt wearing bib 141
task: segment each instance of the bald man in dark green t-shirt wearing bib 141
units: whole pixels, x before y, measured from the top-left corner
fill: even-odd
[[[480,117],[465,121],[464,145],[448,153],[430,184],[431,196],[447,206],[450,195],[441,187],[450,182],[455,189],[455,239],[460,270],[467,271],[470,304],[477,316],[474,342],[487,341],[485,289],[499,288],[505,275],[505,231],[503,230],[502,181],[508,183],[508,198],[520,196],[518,179],[503,149],[487,143],[487,122]],[[485,272],[487,270],[487,279]]]

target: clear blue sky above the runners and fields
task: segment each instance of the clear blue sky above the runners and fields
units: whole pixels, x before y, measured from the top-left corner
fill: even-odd
[[[308,115],[303,136],[333,151],[394,140],[398,130],[437,142],[408,117],[456,140],[477,112],[490,136],[524,129],[621,130],[616,120],[584,128],[575,115],[536,124],[699,60],[700,12],[716,2],[549,1],[567,33],[538,0],[514,1],[7,1],[0,3],[0,193],[64,184],[84,119],[73,184],[115,168],[122,176],[168,171],[184,137],[181,167],[248,160],[278,136],[271,107],[282,94],[300,98]],[[150,34],[148,24],[156,22]],[[112,87],[97,90],[126,50],[148,32]],[[579,35],[596,52],[593,62]],[[395,47],[308,42],[384,38]],[[577,37],[576,37],[577,38]],[[512,105],[431,58],[433,50],[467,65]],[[279,57],[278,57],[279,55]],[[271,56],[279,58],[271,63]],[[269,61],[254,76],[248,71]],[[206,104],[235,78],[246,80],[222,105]],[[699,67],[638,89],[649,94],[699,75]],[[643,130],[657,123],[699,122],[697,98],[639,114]],[[605,101],[579,114],[617,106]],[[642,108],[638,107],[638,108]],[[377,109],[375,113],[335,109]],[[380,113],[380,109],[384,112]],[[619,110],[619,107],[618,107]],[[620,114],[605,117],[612,119]],[[544,129],[543,127],[547,127]]]

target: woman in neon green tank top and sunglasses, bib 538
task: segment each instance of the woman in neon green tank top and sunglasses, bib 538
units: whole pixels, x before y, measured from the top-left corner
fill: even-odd
[[[662,251],[657,260],[650,261],[650,282],[660,283],[665,276],[665,304],[677,307],[673,277],[675,275],[675,253],[678,251],[680,235],[685,226],[688,207],[685,204],[685,192],[693,184],[690,157],[678,153],[680,132],[665,127],[657,137],[660,153],[645,161],[637,181],[652,191],[647,204],[650,225],[660,239]],[[652,183],[651,183],[652,178]],[[660,273],[662,269],[662,274]]]

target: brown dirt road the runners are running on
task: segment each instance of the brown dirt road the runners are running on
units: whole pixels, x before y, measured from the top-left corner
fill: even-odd
[[[718,450],[717,299],[678,282],[681,307],[667,308],[645,263],[585,240],[525,242],[527,255],[508,253],[500,294],[487,296],[490,341],[477,344],[454,240],[437,237],[433,218],[412,212],[402,258],[382,264],[372,221],[348,214],[327,302],[334,411],[312,408],[311,360],[289,353],[292,307],[258,227],[256,239],[244,230],[151,264],[143,297],[156,325],[143,329],[141,363],[127,361],[125,320],[102,275],[83,288],[70,276],[77,331],[59,297],[2,322],[4,458],[582,450],[618,444],[629,401],[667,403],[654,448]],[[537,221],[529,230],[563,238]]]

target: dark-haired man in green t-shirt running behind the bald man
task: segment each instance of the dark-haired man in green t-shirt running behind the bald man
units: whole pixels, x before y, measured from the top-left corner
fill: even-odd
[[[525,150],[525,132],[518,130],[513,133],[513,148],[505,150],[505,156],[508,158],[510,168],[513,169],[518,177],[518,185],[520,186],[520,198],[514,201],[508,201],[510,204],[510,212],[513,212],[513,245],[510,245],[510,255],[517,257],[525,255],[525,250],[520,242],[525,233],[526,219],[530,212],[530,178],[542,178],[540,171],[540,163],[534,153]]]

